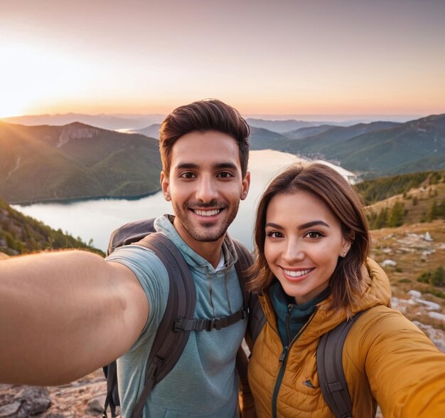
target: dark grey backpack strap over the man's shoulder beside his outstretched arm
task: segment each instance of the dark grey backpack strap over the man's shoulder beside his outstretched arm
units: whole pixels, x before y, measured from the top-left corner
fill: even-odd
[[[183,352],[190,335],[189,330],[181,330],[174,324],[182,320],[193,320],[196,294],[190,268],[175,244],[159,233],[149,234],[136,245],[155,252],[168,272],[170,291],[166,311],[156,332],[149,358],[146,362],[145,386],[132,418],[142,416],[146,399],[157,382],[170,372]]]

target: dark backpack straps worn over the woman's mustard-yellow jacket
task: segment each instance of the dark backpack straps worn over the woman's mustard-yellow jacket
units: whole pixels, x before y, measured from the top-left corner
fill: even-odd
[[[352,318],[343,320],[336,328],[321,335],[317,345],[316,362],[321,393],[336,418],[353,418],[342,354],[346,335],[362,313],[363,311],[356,313]],[[250,348],[253,348],[265,322],[261,304],[258,298],[252,295],[247,326],[250,333],[247,335],[250,337],[247,343]]]

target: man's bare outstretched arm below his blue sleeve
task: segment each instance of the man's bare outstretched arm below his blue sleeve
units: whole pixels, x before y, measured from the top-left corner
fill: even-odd
[[[149,313],[129,268],[85,251],[0,261],[0,382],[58,385],[126,352]]]

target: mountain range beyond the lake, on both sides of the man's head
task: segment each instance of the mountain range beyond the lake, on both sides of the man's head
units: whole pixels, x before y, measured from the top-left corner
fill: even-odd
[[[252,150],[336,162],[363,178],[445,168],[445,114],[350,126],[267,122],[269,129],[250,125]],[[284,127],[290,129],[279,132]],[[24,203],[154,193],[161,170],[158,133],[159,123],[129,134],[80,122],[0,122],[0,197]]]

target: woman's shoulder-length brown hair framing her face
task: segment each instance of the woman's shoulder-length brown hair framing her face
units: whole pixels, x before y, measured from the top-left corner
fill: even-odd
[[[352,244],[348,254],[338,258],[330,279],[331,309],[350,307],[362,291],[361,268],[368,256],[370,238],[368,225],[363,214],[360,197],[346,179],[326,164],[310,163],[289,167],[278,174],[262,194],[254,224],[254,240],[257,258],[250,268],[252,278],[247,287],[254,293],[267,291],[274,275],[264,256],[267,207],[277,194],[294,194],[299,190],[312,193],[325,202],[341,223],[345,239]]]

